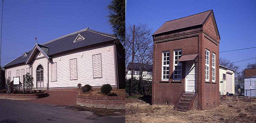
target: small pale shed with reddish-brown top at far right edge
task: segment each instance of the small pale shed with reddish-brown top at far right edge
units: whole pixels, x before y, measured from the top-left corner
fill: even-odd
[[[256,68],[244,69],[244,96],[255,97]]]

